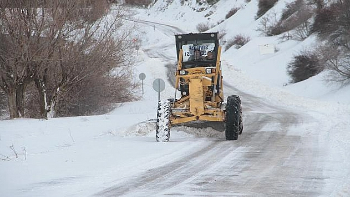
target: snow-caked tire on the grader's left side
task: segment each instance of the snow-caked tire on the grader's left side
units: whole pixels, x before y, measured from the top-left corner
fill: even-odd
[[[156,141],[168,142],[170,139],[170,101],[160,100],[157,110]]]

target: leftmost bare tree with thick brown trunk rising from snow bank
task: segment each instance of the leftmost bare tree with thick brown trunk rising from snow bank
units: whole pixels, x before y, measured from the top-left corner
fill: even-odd
[[[0,86],[7,94],[10,117],[16,118],[24,115],[26,86],[42,69],[51,51],[40,44],[43,43],[40,30],[43,20],[38,16],[37,4],[1,3]]]

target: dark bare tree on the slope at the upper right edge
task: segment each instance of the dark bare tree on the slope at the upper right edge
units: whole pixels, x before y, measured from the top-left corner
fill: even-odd
[[[321,53],[333,81],[350,81],[350,0],[337,0],[317,10],[312,31],[326,42]],[[330,49],[329,49],[330,48]],[[325,51],[325,52],[324,52]],[[330,80],[330,78],[328,79]]]

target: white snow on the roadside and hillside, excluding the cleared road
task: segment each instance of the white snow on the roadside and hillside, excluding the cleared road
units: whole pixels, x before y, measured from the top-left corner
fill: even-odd
[[[223,44],[237,34],[250,36],[251,41],[240,49],[231,47],[221,54],[224,90],[227,85],[232,87],[230,91],[258,97],[276,109],[285,108],[298,114],[298,121],[305,122],[289,128],[286,135],[317,139],[311,148],[322,155],[318,164],[326,177],[324,188],[316,188],[321,191],[319,196],[350,196],[350,87],[326,83],[327,72],[295,84],[289,83],[286,74],[293,55],[313,47],[317,39],[311,36],[304,41],[281,41],[278,37],[261,36],[256,31],[260,21],[254,19],[257,0],[249,3],[220,0],[202,12],[193,11],[200,8],[194,2],[189,0],[182,6],[179,0],[170,4],[158,0],[150,8],[132,9],[133,19],[142,21],[138,22],[140,50],[134,77],[144,73],[146,79],[139,101],[123,103],[100,116],[0,121],[1,197],[108,196],[113,194],[106,192],[108,188],[137,181],[140,174],[196,154],[211,145],[213,138],[224,140],[222,133],[210,129],[180,127],[172,130],[168,143],[155,141],[158,94],[152,82],[164,79],[166,87],[160,93],[161,99],[174,97],[175,89],[166,78],[167,66],[176,63],[174,34],[195,33],[199,23],[213,24],[208,32],[226,32],[221,40]],[[272,11],[278,12],[286,2],[279,0]],[[232,7],[240,10],[221,22]],[[209,13],[213,14],[205,17]],[[276,52],[262,55],[260,46],[265,44],[273,46]],[[247,122],[253,121],[249,115],[264,113],[264,103],[261,105],[259,109],[250,109],[242,101],[243,123],[248,133]],[[277,125],[271,123],[265,127],[268,132]],[[298,146],[303,149],[306,142]],[[201,173],[193,179],[199,179]],[[186,181],[176,187],[185,196],[198,196],[196,191],[187,190]],[[177,193],[169,190],[176,196]],[[166,193],[136,190],[110,196],[128,195],[166,196]]]

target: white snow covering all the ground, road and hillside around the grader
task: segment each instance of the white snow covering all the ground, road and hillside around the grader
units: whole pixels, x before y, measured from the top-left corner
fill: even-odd
[[[240,9],[225,20],[232,7]],[[0,121],[0,196],[349,196],[350,87],[326,84],[327,73],[289,84],[291,57],[317,40],[262,37],[257,10],[258,0],[157,0],[134,8],[142,99],[102,116]],[[221,55],[225,93],[243,98],[245,130],[225,141],[210,129],[176,128],[170,142],[156,143],[152,82],[164,79],[161,99],[174,97],[166,80],[176,62],[174,33],[196,32],[199,23],[226,32],[223,45],[237,34],[251,38]],[[262,55],[265,44],[274,53]]]

